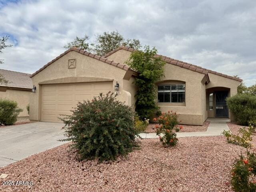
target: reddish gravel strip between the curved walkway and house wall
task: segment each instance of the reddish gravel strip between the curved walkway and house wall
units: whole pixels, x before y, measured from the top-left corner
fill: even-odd
[[[183,128],[180,130],[180,132],[199,132],[199,131],[206,131],[208,126],[210,124],[210,121],[205,121],[202,126],[198,125],[178,125],[178,126],[183,126]],[[156,128],[155,126],[159,125],[158,123],[151,123],[148,125],[148,127],[145,130],[145,133],[155,133]]]

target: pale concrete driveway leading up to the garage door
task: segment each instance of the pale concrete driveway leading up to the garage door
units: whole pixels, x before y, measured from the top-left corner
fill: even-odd
[[[0,128],[0,167],[65,142],[61,123],[36,122]]]

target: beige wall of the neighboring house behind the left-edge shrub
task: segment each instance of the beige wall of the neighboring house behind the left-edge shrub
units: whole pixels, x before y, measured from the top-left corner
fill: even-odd
[[[28,117],[28,111],[26,106],[30,102],[31,91],[7,89],[6,92],[0,92],[0,98],[6,98],[16,101],[18,107],[23,109],[23,112],[19,114],[19,117]]]

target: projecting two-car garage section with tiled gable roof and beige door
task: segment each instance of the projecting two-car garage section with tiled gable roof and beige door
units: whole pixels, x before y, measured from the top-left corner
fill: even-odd
[[[66,50],[30,76],[30,122],[61,122],[60,114],[71,114],[79,101],[92,100],[101,92],[118,92],[119,101],[134,106],[137,75],[112,59],[75,47]]]

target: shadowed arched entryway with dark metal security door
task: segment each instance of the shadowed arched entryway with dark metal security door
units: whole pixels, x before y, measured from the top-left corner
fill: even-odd
[[[230,88],[212,87],[206,89],[206,106],[208,117],[226,117],[229,110],[226,104],[226,98],[230,96]]]

